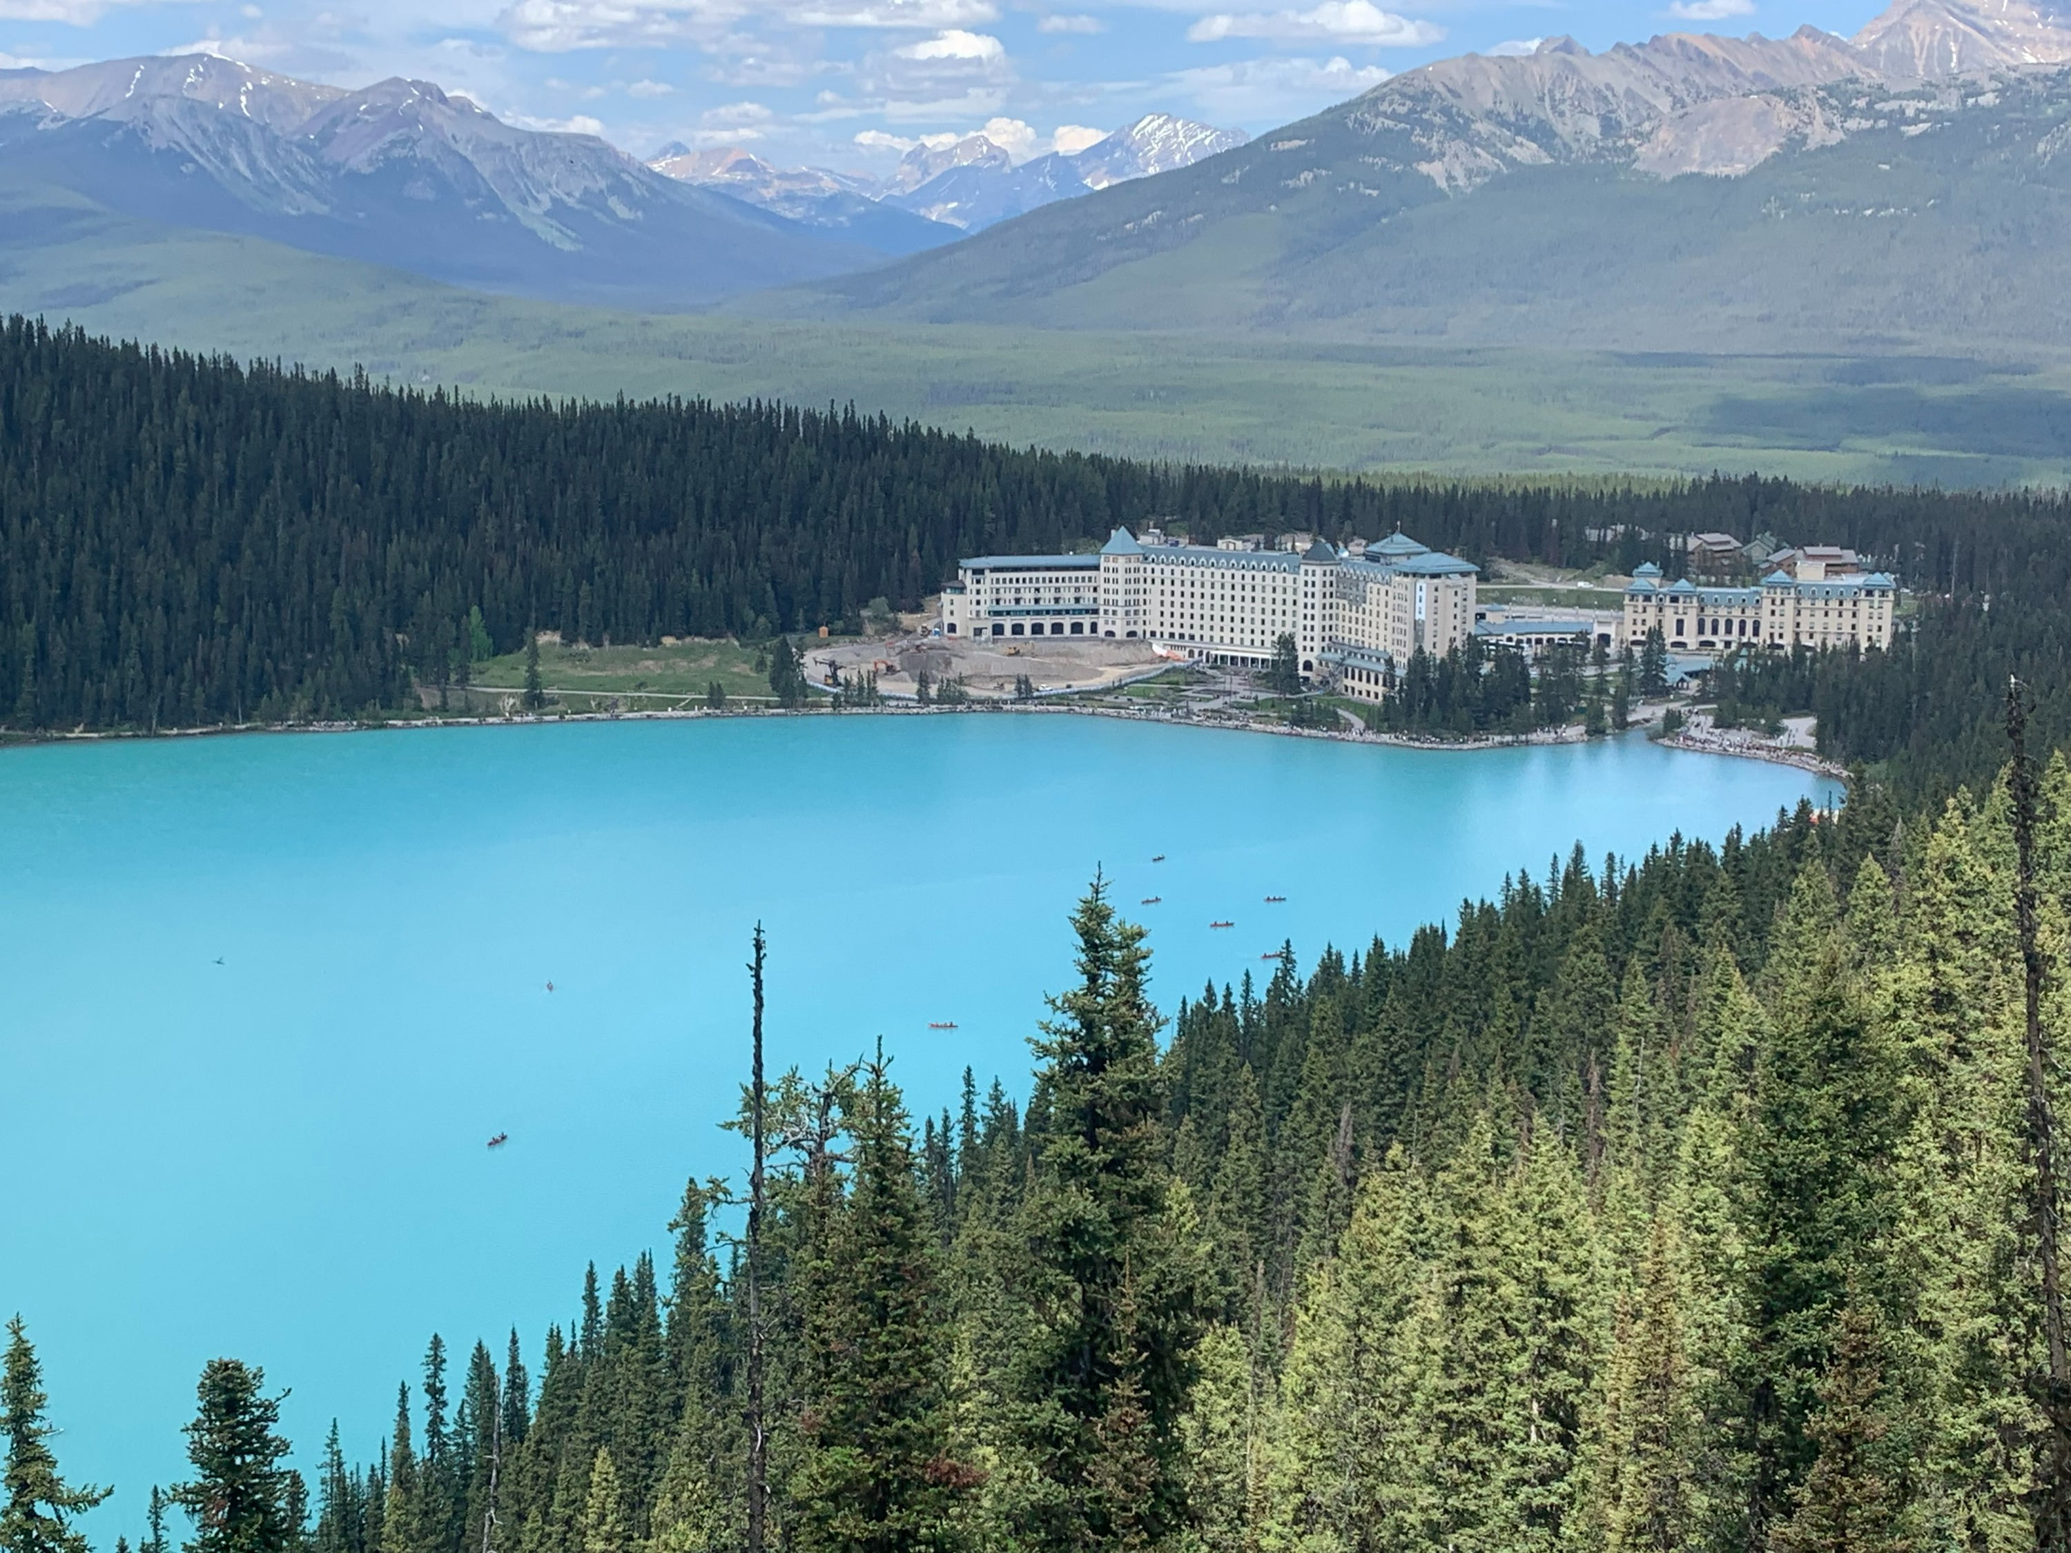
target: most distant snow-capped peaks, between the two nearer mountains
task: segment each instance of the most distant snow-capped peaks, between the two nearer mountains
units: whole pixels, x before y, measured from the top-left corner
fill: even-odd
[[[1060,199],[1191,168],[1247,139],[1243,130],[1145,114],[1079,151],[1050,151],[1027,162],[1015,162],[984,135],[965,135],[951,145],[922,143],[884,180],[822,168],[777,168],[737,145],[714,151],[667,145],[648,166],[795,222],[853,232],[882,230],[891,240],[899,240],[909,228],[870,226],[868,205],[909,211],[940,232],[930,242],[911,228],[915,238],[905,251],[913,251],[953,242],[963,232],[978,232]]]

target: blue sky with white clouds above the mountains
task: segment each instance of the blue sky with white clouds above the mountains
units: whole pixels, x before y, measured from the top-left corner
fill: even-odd
[[[1789,8],[1785,8],[1789,6]],[[0,66],[205,48],[358,87],[437,81],[648,155],[888,170],[992,126],[1019,155],[1147,112],[1251,130],[1392,72],[1570,33],[1851,33],[1880,0],[0,0]]]

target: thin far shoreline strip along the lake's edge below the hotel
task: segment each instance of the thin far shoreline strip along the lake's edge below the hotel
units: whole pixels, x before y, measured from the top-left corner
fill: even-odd
[[[1038,702],[982,702],[975,706],[857,706],[843,712],[835,712],[826,706],[801,706],[801,708],[779,708],[779,706],[754,706],[754,708],[663,708],[663,710],[617,710],[617,712],[518,712],[518,714],[487,714],[487,716],[412,716],[396,721],[311,721],[311,723],[230,723],[215,727],[193,727],[193,729],[97,729],[97,731],[72,731],[72,733],[8,733],[0,735],[0,750],[8,745],[39,745],[39,743],[95,743],[95,741],[122,741],[122,739],[207,739],[240,733],[387,733],[387,731],[408,731],[408,729],[483,729],[483,727],[549,727],[555,723],[681,723],[681,721],[702,721],[702,719],[743,719],[743,716],[969,716],[969,714],[1042,714],[1042,716],[1112,716],[1125,723],[1164,723],[1168,727],[1195,727],[1195,729],[1216,729],[1224,733],[1276,733],[1282,737],[1299,739],[1328,739],[1336,743],[1359,743],[1359,745],[1381,745],[1390,750],[1427,750],[1427,752],[1479,752],[1479,750],[1528,750],[1547,748],[1564,743],[1588,743],[1588,735],[1582,725],[1570,723],[1559,729],[1535,729],[1533,733],[1481,733],[1466,739],[1441,739],[1435,735],[1414,735],[1414,733],[1354,733],[1350,729],[1296,729],[1284,723],[1238,723],[1238,721],[1218,721],[1218,719],[1193,719],[1193,716],[1168,716],[1164,712],[1131,712],[1118,706],[1062,706]],[[1642,725],[1626,729],[1628,733],[1638,731]],[[1659,743],[1671,750],[1684,750],[1688,754],[1702,756],[1733,756],[1740,760],[1764,760],[1779,766],[1793,766],[1798,770],[1808,770],[1816,777],[1829,777],[1835,781],[1845,781],[1847,770],[1833,764],[1831,760],[1820,760],[1818,756],[1804,750],[1777,750],[1746,743],[1725,743],[1694,739],[1688,733],[1678,733]]]

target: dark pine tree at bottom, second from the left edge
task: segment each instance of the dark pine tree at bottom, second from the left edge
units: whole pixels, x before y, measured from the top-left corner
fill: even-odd
[[[280,1398],[265,1396],[265,1373],[211,1358],[197,1396],[201,1406],[186,1425],[195,1476],[172,1491],[195,1522],[186,1553],[292,1553],[302,1532],[290,1507],[296,1476],[282,1466],[290,1445],[273,1433]]]

